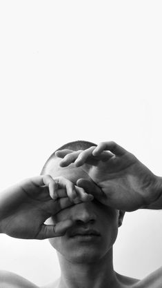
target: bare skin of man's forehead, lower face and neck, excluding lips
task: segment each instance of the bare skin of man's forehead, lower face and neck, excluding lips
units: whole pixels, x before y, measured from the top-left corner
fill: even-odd
[[[79,178],[84,178],[88,181],[88,191],[96,189],[92,179],[81,167],[76,168],[70,165],[68,168],[61,168],[59,162],[59,159],[55,159],[53,163],[50,163],[48,173],[51,176],[61,174],[74,183],[77,183]],[[86,288],[109,287],[109,285],[114,288],[124,287],[112,265],[112,245],[117,238],[123,213],[95,199],[92,202],[79,203],[70,209],[63,209],[52,217],[50,223],[65,218],[72,219],[74,225],[64,236],[50,239],[51,245],[58,251],[61,265],[61,279],[58,287]],[[70,237],[72,232],[81,229],[95,229],[100,236],[87,242]],[[134,281],[132,279],[132,282]]]

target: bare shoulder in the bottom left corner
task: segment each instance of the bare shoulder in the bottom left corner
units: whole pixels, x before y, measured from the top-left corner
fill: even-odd
[[[0,271],[0,287],[1,288],[39,288],[32,282],[26,280],[25,278],[14,274],[10,271],[1,270]]]

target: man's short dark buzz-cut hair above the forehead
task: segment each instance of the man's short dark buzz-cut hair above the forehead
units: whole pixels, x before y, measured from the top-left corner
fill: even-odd
[[[78,150],[88,149],[88,148],[90,148],[92,146],[97,146],[97,144],[89,142],[89,141],[83,141],[83,140],[73,141],[73,142],[69,142],[69,143],[64,144],[63,146],[59,147],[59,149],[55,150],[50,155],[48,160],[43,165],[43,168],[41,170],[41,175],[45,174],[45,169],[48,166],[48,163],[50,162],[50,160],[52,160],[53,158],[56,157],[55,156],[55,152],[57,152],[58,150],[70,149],[70,150],[78,151]]]

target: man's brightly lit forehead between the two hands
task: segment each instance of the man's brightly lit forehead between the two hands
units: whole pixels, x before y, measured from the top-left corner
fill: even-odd
[[[55,157],[51,159],[45,169],[45,174],[50,174],[53,178],[63,176],[72,181],[72,183],[77,183],[79,178],[91,180],[82,167],[75,167],[74,164],[70,164],[68,167],[60,167],[60,162],[61,158]]]

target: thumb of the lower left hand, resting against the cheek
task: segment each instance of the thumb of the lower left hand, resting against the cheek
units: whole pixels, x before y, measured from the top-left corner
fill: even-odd
[[[46,239],[63,236],[65,232],[72,227],[72,220],[64,220],[55,225],[45,225],[42,224],[40,227],[39,234],[37,234],[37,239]]]

